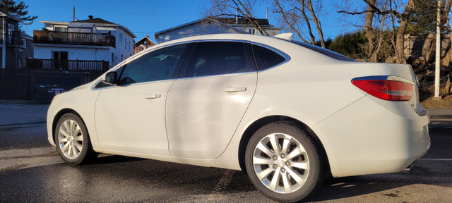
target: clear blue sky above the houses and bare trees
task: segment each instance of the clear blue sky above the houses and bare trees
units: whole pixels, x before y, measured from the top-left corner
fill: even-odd
[[[41,30],[44,27],[40,20],[72,21],[72,8],[75,6],[78,20],[86,20],[90,15],[94,18],[102,18],[128,27],[136,35],[135,40],[150,35],[150,39],[154,42],[154,32],[203,18],[201,7],[209,6],[209,0],[24,0],[23,2],[28,5],[30,16],[38,16],[32,25],[23,25],[22,30],[25,30],[28,35],[32,35],[33,30]],[[266,7],[261,7],[255,9],[256,15],[258,18],[266,18]],[[278,26],[270,12],[268,20],[270,24]],[[321,20],[325,38],[334,38],[340,33],[356,29],[341,26],[337,19],[328,15],[321,16]]]

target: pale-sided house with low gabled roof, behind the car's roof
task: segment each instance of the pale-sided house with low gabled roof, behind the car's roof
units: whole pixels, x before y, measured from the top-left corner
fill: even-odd
[[[268,35],[278,35],[281,28],[270,25],[267,19],[255,19]],[[157,42],[191,37],[196,35],[220,34],[220,33],[244,33],[261,35],[248,18],[201,18],[190,23],[171,27],[167,30],[155,32]]]

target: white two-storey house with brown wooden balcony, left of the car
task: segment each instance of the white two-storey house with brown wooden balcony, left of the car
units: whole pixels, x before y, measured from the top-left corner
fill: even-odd
[[[112,67],[132,56],[133,32],[123,25],[89,17],[74,22],[40,21],[44,28],[33,31],[37,63],[32,68],[105,69],[105,64]]]

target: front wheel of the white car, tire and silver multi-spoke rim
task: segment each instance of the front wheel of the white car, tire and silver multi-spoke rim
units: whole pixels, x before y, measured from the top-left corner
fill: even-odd
[[[74,113],[59,118],[54,131],[57,152],[69,164],[86,164],[97,157],[82,119]]]

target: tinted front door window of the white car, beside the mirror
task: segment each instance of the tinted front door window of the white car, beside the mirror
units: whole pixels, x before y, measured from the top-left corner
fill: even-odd
[[[151,51],[124,66],[118,85],[152,82],[172,78],[186,44]]]

